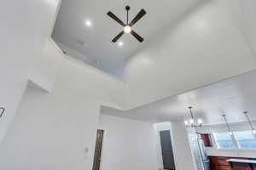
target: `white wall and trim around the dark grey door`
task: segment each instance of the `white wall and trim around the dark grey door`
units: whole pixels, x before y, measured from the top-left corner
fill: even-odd
[[[175,166],[177,170],[195,170],[195,164],[189,146],[189,138],[183,122],[162,122],[154,124],[156,138],[159,139],[159,131],[170,130],[172,138],[172,149],[174,155]],[[160,141],[158,146],[158,163],[159,168],[163,169],[162,157],[160,150]]]

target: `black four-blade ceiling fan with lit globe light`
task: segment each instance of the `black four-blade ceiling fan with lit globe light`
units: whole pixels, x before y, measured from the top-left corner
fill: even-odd
[[[126,11],[127,11],[127,20],[126,23],[124,23],[122,20],[119,20],[119,18],[113,14],[112,12],[108,12],[108,16],[110,18],[112,18],[113,20],[117,21],[121,26],[124,27],[124,30],[121,31],[116,37],[113,38],[112,42],[117,42],[119,40],[120,37],[122,37],[125,33],[129,34],[131,33],[131,35],[133,37],[135,37],[137,39],[137,41],[139,42],[143,42],[143,37],[140,37],[135,31],[132,30],[132,26],[135,25],[137,23],[138,20],[140,20],[141,18],[143,18],[143,15],[146,14],[146,11],[144,9],[141,9],[140,12],[136,15],[136,17],[131,20],[131,22],[129,23],[129,10],[130,10],[130,6],[126,6],[125,7]]]

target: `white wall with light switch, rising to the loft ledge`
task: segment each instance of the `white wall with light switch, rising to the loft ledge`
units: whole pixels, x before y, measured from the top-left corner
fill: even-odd
[[[100,105],[121,105],[125,86],[73,59],[60,69],[51,93],[27,88],[0,144],[0,169],[92,168]]]

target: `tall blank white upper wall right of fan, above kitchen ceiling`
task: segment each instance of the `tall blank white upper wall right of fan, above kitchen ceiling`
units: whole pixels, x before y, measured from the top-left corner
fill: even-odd
[[[129,60],[125,80],[131,107],[256,68],[231,3],[205,1]]]

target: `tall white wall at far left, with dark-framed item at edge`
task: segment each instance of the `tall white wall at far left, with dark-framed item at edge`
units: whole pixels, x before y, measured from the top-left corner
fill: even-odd
[[[26,82],[43,57],[52,30],[58,0],[9,0],[0,6],[0,106],[6,108],[0,120],[0,141],[11,122]]]

